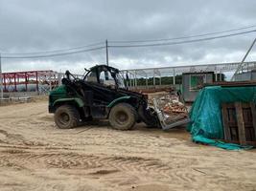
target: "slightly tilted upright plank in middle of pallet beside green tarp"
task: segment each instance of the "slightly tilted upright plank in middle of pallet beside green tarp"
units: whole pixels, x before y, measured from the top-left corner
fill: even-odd
[[[239,141],[241,145],[246,145],[242,103],[235,102],[235,107],[236,107],[237,121],[238,121]]]

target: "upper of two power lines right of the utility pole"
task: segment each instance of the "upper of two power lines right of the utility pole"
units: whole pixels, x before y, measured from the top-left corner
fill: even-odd
[[[108,42],[109,43],[140,43],[140,42],[143,43],[143,42],[181,40],[181,39],[202,37],[202,36],[213,35],[213,34],[221,34],[221,33],[226,33],[226,32],[237,32],[237,31],[250,29],[250,28],[255,28],[255,27],[256,27],[256,25],[252,25],[252,26],[248,26],[248,27],[243,27],[243,28],[238,28],[238,29],[233,29],[233,30],[227,30],[227,31],[222,31],[222,32],[208,32],[208,33],[203,33],[203,34],[180,36],[180,37],[175,37],[175,38],[162,38],[162,39],[151,39],[151,40],[111,40],[111,41],[108,41]]]

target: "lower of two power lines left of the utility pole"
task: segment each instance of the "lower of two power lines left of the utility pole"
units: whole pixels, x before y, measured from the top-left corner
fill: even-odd
[[[42,57],[54,57],[54,56],[60,56],[60,55],[68,55],[68,54],[74,54],[74,53],[86,53],[86,52],[92,52],[97,50],[105,49],[105,47],[97,47],[93,49],[85,49],[75,52],[69,52],[69,53],[52,53],[52,54],[45,54],[45,55],[31,55],[31,56],[2,56],[2,58],[8,58],[8,59],[17,59],[17,58],[42,58]]]

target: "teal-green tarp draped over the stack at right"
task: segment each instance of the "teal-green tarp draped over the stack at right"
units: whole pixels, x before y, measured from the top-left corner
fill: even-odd
[[[223,138],[221,103],[236,101],[256,103],[256,86],[203,88],[192,106],[191,123],[187,127],[193,140],[231,150],[242,148],[214,140]]]

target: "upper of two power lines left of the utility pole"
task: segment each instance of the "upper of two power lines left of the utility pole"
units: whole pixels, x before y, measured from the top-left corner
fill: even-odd
[[[83,49],[86,47],[94,47],[97,45],[103,45],[105,42],[97,42],[93,44],[88,44],[88,45],[83,45],[80,47],[74,47],[74,48],[69,48],[69,49],[59,49],[59,50],[54,50],[54,51],[46,51],[46,52],[37,52],[37,53],[2,53],[4,55],[32,55],[32,54],[43,54],[43,53],[58,53],[58,52],[67,52],[67,51],[72,51],[72,50],[77,50],[77,49]]]

